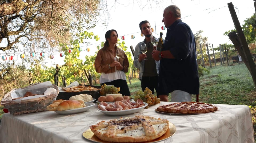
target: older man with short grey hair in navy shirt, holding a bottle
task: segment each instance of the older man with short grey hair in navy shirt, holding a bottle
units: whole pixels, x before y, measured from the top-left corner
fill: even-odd
[[[160,60],[159,94],[161,101],[191,101],[192,94],[199,94],[199,77],[195,38],[190,27],[181,21],[180,9],[170,5],[163,12],[167,33],[162,51],[153,51],[152,57]]]

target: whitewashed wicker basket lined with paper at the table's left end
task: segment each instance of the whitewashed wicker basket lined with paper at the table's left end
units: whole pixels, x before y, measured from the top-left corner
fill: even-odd
[[[18,89],[26,91],[26,89],[29,89],[29,88],[31,88],[31,86],[34,86],[37,84],[39,84],[39,83],[35,83],[28,87],[23,87],[23,88],[18,88]],[[47,96],[44,96],[44,97],[27,99],[25,101],[22,100],[21,103],[16,103],[13,100],[10,100],[11,93],[18,90],[18,89],[12,89],[9,93],[7,93],[5,95],[5,97],[1,101],[1,105],[3,105],[6,109],[8,109],[8,111],[12,115],[21,115],[21,114],[26,114],[26,113],[47,111],[46,107],[48,105],[52,104],[52,102],[56,100],[56,97],[58,96],[58,93],[59,93],[59,89],[58,89],[57,85],[55,85],[55,84],[52,84],[52,85],[49,85],[46,87],[42,87],[42,88],[37,88],[38,91],[46,91],[46,89],[50,88],[50,87],[56,89],[57,92],[47,95]],[[37,93],[37,94],[42,94],[42,93]]]

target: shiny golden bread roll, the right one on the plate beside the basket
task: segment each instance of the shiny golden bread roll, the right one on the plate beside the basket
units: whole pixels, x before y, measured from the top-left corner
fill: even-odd
[[[65,111],[70,109],[83,108],[83,105],[77,100],[66,100],[58,105],[58,111]]]

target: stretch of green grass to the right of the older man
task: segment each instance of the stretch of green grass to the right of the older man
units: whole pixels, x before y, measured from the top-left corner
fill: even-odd
[[[256,89],[245,64],[213,67],[200,77],[199,101],[255,106]]]

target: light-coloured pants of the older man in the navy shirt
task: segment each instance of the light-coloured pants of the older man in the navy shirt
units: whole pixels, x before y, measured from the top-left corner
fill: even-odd
[[[191,94],[182,90],[175,90],[171,92],[171,102],[186,102],[191,101],[191,98]]]

